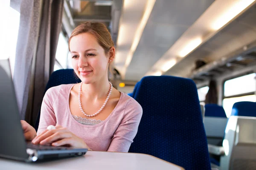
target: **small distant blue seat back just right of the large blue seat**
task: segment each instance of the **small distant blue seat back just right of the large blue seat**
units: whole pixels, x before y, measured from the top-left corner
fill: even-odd
[[[204,106],[204,116],[208,117],[224,117],[227,118],[224,108],[216,104],[207,104]]]

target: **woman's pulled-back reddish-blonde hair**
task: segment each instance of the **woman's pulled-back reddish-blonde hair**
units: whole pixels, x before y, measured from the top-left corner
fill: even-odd
[[[99,45],[104,49],[105,55],[108,55],[108,52],[111,47],[114,46],[114,42],[111,38],[111,34],[108,31],[108,28],[103,23],[91,23],[90,21],[85,22],[77,26],[70,38],[68,40],[68,48],[70,51],[70,40],[72,37],[82,34],[82,33],[90,33],[94,35],[99,43]],[[108,65],[108,77],[113,77],[113,61]]]

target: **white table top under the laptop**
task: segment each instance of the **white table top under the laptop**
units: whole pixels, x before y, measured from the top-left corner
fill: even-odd
[[[184,170],[154,156],[140,153],[88,151],[84,156],[44,163],[0,158],[0,170]]]

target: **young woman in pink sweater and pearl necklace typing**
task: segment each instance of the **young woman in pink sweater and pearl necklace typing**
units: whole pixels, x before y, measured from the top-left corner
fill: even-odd
[[[26,139],[33,139],[34,144],[128,152],[142,108],[108,80],[115,58],[108,29],[102,23],[79,25],[70,36],[69,49],[81,83],[59,85],[46,92],[37,136],[32,126],[21,121]],[[55,129],[47,130],[49,125]]]

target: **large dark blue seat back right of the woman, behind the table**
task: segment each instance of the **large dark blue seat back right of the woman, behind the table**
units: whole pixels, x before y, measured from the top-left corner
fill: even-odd
[[[129,152],[156,156],[186,170],[210,170],[197,88],[191,79],[144,77],[134,99],[143,116]]]

